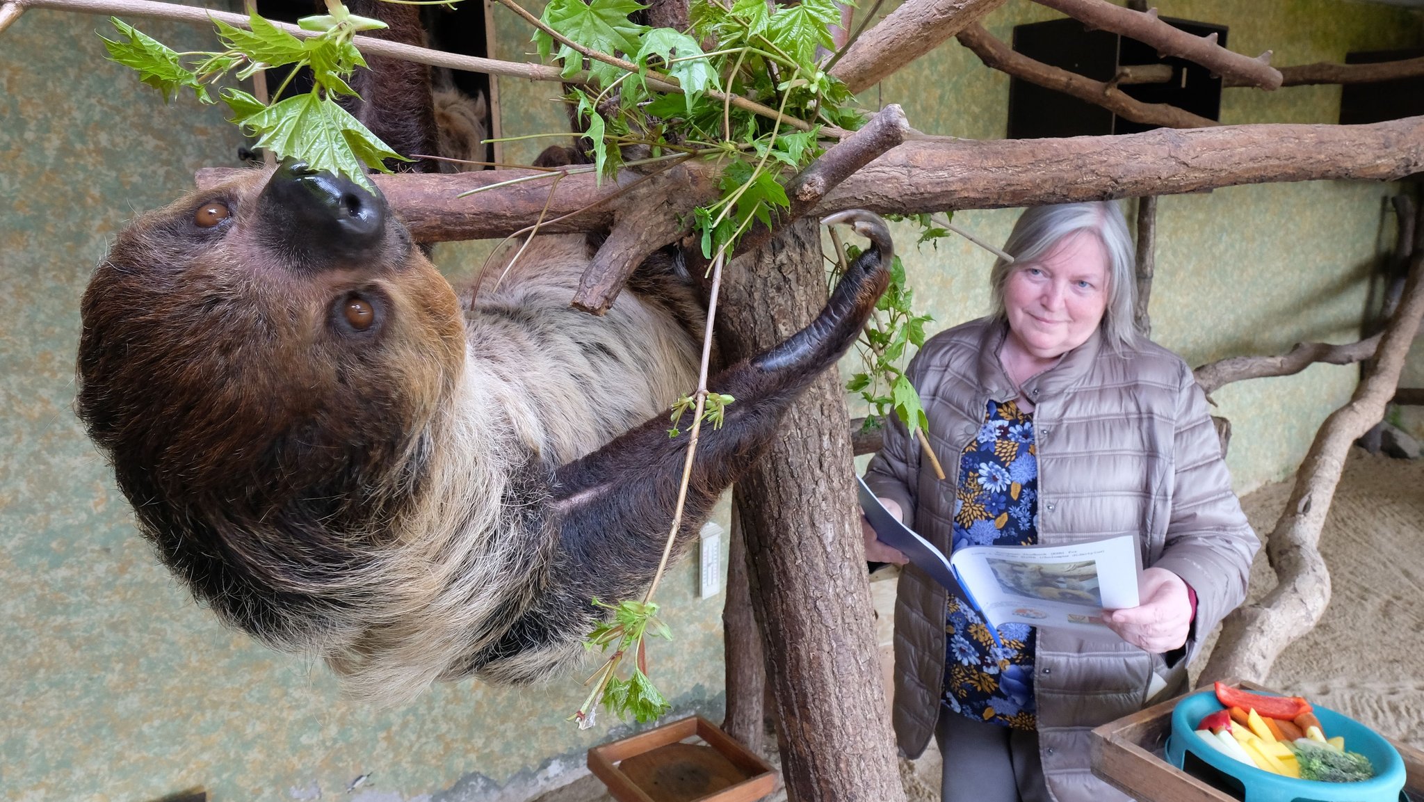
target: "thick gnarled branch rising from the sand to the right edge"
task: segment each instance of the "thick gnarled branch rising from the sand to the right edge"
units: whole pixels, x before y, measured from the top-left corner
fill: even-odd
[[[1330,571],[1320,557],[1320,530],[1344,470],[1351,443],[1380,417],[1396,395],[1400,372],[1424,316],[1424,269],[1410,274],[1404,302],[1384,338],[1378,362],[1347,405],[1330,413],[1306,453],[1296,486],[1276,528],[1266,540],[1266,556],[1279,584],[1255,604],[1237,608],[1222,627],[1220,638],[1202,679],[1240,677],[1263,682],[1276,657],[1320,621],[1330,603]]]

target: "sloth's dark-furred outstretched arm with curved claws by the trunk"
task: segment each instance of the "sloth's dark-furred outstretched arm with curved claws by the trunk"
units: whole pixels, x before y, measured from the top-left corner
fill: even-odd
[[[770,443],[796,395],[850,348],[890,282],[884,222],[869,212],[853,219],[871,248],[850,265],[820,315],[782,345],[708,382],[736,400],[721,429],[702,427],[676,551]],[[686,460],[689,436],[668,437],[666,427],[666,417],[655,417],[555,472],[548,504],[531,507],[541,519],[537,526],[557,537],[555,548],[543,570],[525,577],[533,587],[521,608],[507,611],[508,630],[471,655],[468,671],[508,682],[544,677],[578,651],[575,644],[602,617],[592,598],[642,593],[662,556]]]

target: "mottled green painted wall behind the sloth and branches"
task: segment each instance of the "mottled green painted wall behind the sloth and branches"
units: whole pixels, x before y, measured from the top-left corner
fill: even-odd
[[[1276,61],[1339,60],[1347,50],[1415,44],[1418,17],[1337,0],[1161,4],[1165,14],[1232,26],[1232,46]],[[990,20],[1051,14],[1011,0]],[[531,48],[500,9],[500,53]],[[319,665],[225,631],[159,570],[70,412],[77,305],[104,244],[134,211],[191,187],[192,170],[231,164],[238,145],[214,110],[165,107],[101,60],[95,17],[30,11],[0,37],[0,795],[140,801],[205,785],[214,799],[517,799],[582,765],[607,738],[562,721],[575,682],[513,692],[473,682],[413,705],[372,711],[340,699]],[[195,28],[150,23],[181,46]],[[1001,137],[1007,80],[947,44],[867,98],[906,105],[921,130]],[[501,81],[507,135],[560,130],[550,84]],[[1331,123],[1339,88],[1274,95],[1229,90],[1227,123]],[[527,161],[544,145],[507,145]],[[1155,336],[1192,363],[1273,352],[1297,339],[1353,338],[1364,275],[1393,222],[1381,185],[1340,182],[1218,189],[1161,202]],[[958,222],[1001,241],[1010,211]],[[451,274],[461,254],[446,246]],[[984,309],[990,259],[961,241],[906,248],[913,282],[940,323]],[[1424,369],[1421,369],[1424,370]],[[1324,415],[1347,397],[1351,368],[1312,368],[1218,393],[1236,426],[1230,463],[1252,487],[1292,469]],[[661,600],[678,642],[656,647],[679,708],[721,701],[721,597],[695,598],[693,567]]]

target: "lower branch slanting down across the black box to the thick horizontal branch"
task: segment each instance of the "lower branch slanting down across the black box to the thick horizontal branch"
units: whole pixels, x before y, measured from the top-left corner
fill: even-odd
[[[1064,94],[1101,105],[1118,117],[1143,123],[1148,125],[1168,125],[1172,128],[1206,128],[1216,125],[1215,120],[1208,120],[1183,111],[1165,103],[1142,103],[1129,97],[1122,90],[1104,81],[1095,81],[1078,73],[1062,70],[1037,61],[1008,47],[994,38],[984,26],[973,24],[960,31],[960,44],[968,47],[980,57],[985,67],[993,67],[1008,73],[1015,78],[1022,78],[1031,84],[1038,84]]]

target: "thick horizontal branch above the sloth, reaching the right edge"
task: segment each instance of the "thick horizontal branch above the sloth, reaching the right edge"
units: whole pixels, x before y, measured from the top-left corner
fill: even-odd
[[[688,162],[689,172],[718,168]],[[1273,181],[1394,181],[1424,171],[1424,117],[1370,125],[1219,125],[1158,128],[1116,137],[1067,140],[954,140],[904,142],[860,168],[813,214],[864,208],[877,214],[990,209],[1141,195],[1173,195]],[[211,187],[235,170],[205,170]],[[470,198],[459,192],[533,171],[376,175],[396,212],[424,242],[506,236],[533,224],[548,187],[504,187]],[[627,184],[619,178],[619,184]],[[612,224],[588,204],[617,187],[570,175],[550,202],[543,231],[594,231]],[[578,214],[574,214],[578,212]],[[561,215],[572,215],[561,218]]]

